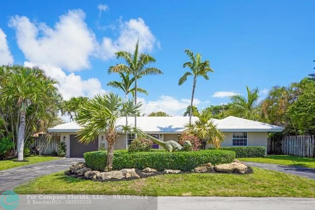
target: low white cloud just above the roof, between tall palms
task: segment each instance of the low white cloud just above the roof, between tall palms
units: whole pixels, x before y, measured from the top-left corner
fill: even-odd
[[[161,96],[155,101],[146,101],[144,98],[139,98],[139,101],[142,102],[142,113],[145,114],[162,111],[171,115],[182,116],[190,105],[190,99],[182,98],[178,100],[171,96]],[[202,104],[202,102],[198,98],[194,98],[193,104],[196,106]]]

